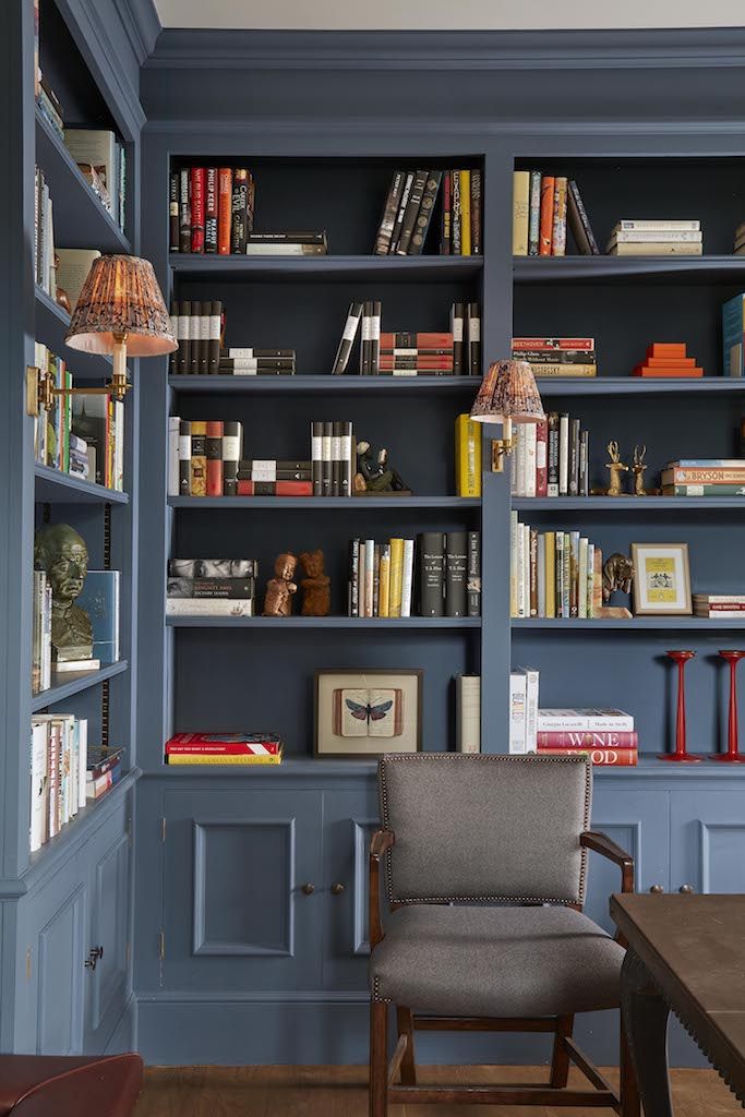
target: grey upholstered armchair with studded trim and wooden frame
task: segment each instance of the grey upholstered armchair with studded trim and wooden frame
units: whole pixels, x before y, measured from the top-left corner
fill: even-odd
[[[631,858],[589,830],[589,760],[390,755],[380,762],[379,791],[383,829],[370,851],[371,1117],[385,1117],[389,1101],[612,1106],[638,1117],[623,1040],[619,1098],[572,1039],[575,1013],[619,1008],[624,953],[582,914],[588,850],[617,862],[622,890],[633,890]],[[399,1038],[389,1067],[391,1004]],[[550,1081],[418,1086],[417,1029],[553,1033]],[[570,1061],[593,1089],[566,1088]]]

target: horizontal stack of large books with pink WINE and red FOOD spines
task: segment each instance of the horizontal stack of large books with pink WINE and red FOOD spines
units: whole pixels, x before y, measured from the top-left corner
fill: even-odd
[[[631,767],[638,746],[633,717],[621,709],[538,709],[538,753],[586,754],[593,764]]]

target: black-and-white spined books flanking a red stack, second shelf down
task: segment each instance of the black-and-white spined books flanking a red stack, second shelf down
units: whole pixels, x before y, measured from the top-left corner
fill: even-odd
[[[357,333],[361,375],[480,375],[481,312],[478,303],[453,303],[449,331],[382,331],[381,319],[379,300],[350,304],[332,375],[347,371]]]

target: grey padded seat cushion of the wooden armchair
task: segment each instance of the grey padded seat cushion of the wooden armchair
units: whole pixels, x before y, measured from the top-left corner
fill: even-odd
[[[412,905],[388,919],[371,989],[434,1015],[591,1012],[618,1008],[623,955],[572,908]]]

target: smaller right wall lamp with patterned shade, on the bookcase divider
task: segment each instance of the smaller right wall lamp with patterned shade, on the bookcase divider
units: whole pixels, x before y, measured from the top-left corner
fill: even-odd
[[[546,416],[535,376],[527,361],[495,361],[481,381],[471,419],[502,423],[502,438],[491,440],[491,472],[505,468],[505,456],[514,448],[513,422],[538,423]]]

